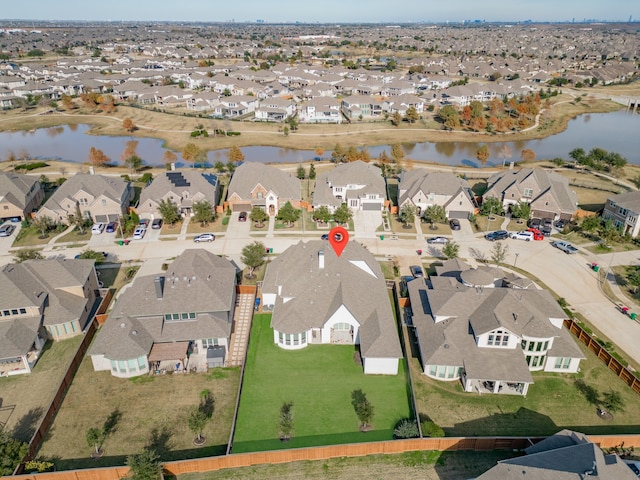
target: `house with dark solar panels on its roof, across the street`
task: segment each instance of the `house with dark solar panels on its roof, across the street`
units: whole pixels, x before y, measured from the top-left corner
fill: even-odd
[[[193,204],[207,201],[215,209],[220,196],[217,175],[189,169],[158,174],[151,185],[142,190],[136,209],[140,215],[161,217],[158,206],[170,200],[178,206],[180,214],[191,215]]]

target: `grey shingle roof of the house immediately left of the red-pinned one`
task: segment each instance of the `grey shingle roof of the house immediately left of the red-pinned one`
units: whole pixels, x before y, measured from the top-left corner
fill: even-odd
[[[149,353],[154,342],[228,338],[235,302],[236,268],[204,249],[185,250],[162,275],[162,298],[156,278],[136,278],[114,305],[89,350],[110,360]],[[195,313],[185,321],[165,314]]]

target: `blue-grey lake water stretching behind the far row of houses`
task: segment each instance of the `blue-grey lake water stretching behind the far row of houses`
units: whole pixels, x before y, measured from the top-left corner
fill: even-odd
[[[102,150],[113,163],[121,164],[125,144],[128,140],[138,141],[137,152],[147,165],[162,165],[165,149],[163,141],[154,138],[109,137],[87,135],[89,125],[64,125],[42,128],[34,131],[0,132],[0,159],[6,159],[10,152],[20,156],[27,153],[32,158],[58,159],[69,162],[86,162],[91,147]],[[187,135],[185,133],[185,135]],[[292,133],[291,135],[295,135]],[[600,147],[624,156],[629,163],[640,165],[640,115],[619,110],[612,113],[581,115],[569,122],[567,129],[556,135],[540,140],[489,143],[491,155],[486,166],[499,165],[503,159],[499,151],[508,145],[512,157],[519,160],[523,149],[531,149],[538,159],[556,157],[569,159],[569,152],[576,147],[585,151]],[[338,141],[338,139],[336,139]],[[407,157],[416,162],[436,162],[445,165],[481,167],[476,159],[476,151],[482,142],[422,142],[403,144]],[[389,154],[389,145],[368,147],[372,158],[383,150]],[[312,160],[316,154],[311,150],[295,150],[279,147],[242,147],[245,161],[263,163],[297,163]],[[185,166],[180,153],[177,166]],[[323,158],[330,158],[326,151]],[[227,162],[227,150],[213,150],[208,153],[208,162]]]

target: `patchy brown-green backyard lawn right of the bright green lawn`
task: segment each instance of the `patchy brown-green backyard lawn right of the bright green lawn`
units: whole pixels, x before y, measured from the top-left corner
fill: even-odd
[[[586,357],[577,374],[532,372],[526,397],[464,393],[460,382],[440,382],[421,374],[411,359],[418,410],[440,425],[447,436],[551,435],[563,428],[586,434],[637,433],[640,398],[593,352],[580,345]],[[612,420],[598,417],[600,406],[589,401],[589,391],[600,396],[619,392],[624,410]]]

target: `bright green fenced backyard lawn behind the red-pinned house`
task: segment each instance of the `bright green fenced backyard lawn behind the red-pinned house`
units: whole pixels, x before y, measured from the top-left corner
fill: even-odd
[[[273,343],[271,315],[256,315],[233,452],[276,450],[390,440],[393,428],[410,416],[406,371],[394,376],[364,375],[353,360],[354,347],[310,345],[285,351]],[[374,407],[373,430],[362,433],[351,392],[362,389]],[[293,402],[294,438],[278,439],[283,402]]]

